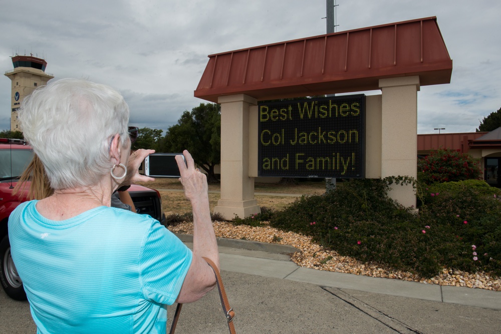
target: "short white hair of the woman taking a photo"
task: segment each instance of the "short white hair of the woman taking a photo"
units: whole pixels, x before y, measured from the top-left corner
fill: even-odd
[[[114,136],[128,144],[129,107],[122,95],[87,80],[60,79],[36,89],[23,100],[19,121],[54,189],[97,184],[113,166]]]

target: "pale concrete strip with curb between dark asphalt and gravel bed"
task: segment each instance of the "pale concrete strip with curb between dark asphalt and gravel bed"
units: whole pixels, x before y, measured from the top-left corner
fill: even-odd
[[[192,246],[192,235],[177,234],[177,236],[185,244]],[[297,249],[289,245],[225,238],[218,238],[218,245],[221,270],[294,280],[323,287],[353,289],[501,310],[501,292],[499,291],[440,286],[304,268],[290,260],[287,254]]]

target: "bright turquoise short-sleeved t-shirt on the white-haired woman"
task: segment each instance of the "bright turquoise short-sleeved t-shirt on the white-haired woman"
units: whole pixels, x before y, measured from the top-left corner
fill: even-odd
[[[55,221],[37,200],[9,218],[38,333],[165,333],[192,253],[149,215],[100,206]]]

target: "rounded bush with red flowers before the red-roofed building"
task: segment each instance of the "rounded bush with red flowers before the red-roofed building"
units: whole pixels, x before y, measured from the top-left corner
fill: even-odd
[[[435,182],[480,179],[478,159],[459,150],[438,149],[431,151],[417,162],[418,179],[426,184]]]

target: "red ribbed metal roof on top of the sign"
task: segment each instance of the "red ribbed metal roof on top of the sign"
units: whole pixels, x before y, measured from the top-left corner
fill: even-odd
[[[449,83],[452,60],[436,17],[377,25],[211,54],[194,95],[217,102],[379,89],[379,79],[419,75]]]

